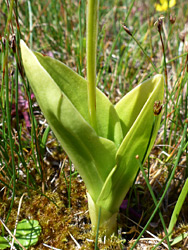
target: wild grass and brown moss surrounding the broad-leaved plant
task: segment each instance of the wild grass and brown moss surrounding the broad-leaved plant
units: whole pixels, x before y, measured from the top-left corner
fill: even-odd
[[[116,104],[154,76],[155,68],[165,77],[157,140],[144,165],[137,159],[141,171],[120,207],[118,235],[106,241],[100,232],[98,240],[91,233],[85,185],[41,113],[19,47],[22,38],[32,50],[59,59],[86,77],[86,3],[12,0],[0,5],[2,221],[13,230],[17,218],[37,220],[42,233],[31,249],[186,247],[188,4],[179,1],[156,12],[155,1],[99,3],[98,88]],[[154,25],[161,15],[164,19]],[[0,231],[8,236],[2,224]],[[145,239],[139,241],[141,236]]]

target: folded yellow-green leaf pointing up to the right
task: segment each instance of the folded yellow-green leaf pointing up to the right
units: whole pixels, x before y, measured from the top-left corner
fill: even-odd
[[[156,101],[161,103],[163,101],[163,76],[157,75],[144,82],[134,89],[133,93],[137,97],[136,99],[133,98],[132,93],[129,93],[124,98],[126,106],[124,107],[122,103],[121,108],[118,107],[121,122],[124,123],[123,127],[130,127],[116,154],[117,168],[114,174],[108,178],[108,182],[110,182],[110,185],[112,184],[111,189],[108,188],[109,183],[106,182],[100,194],[100,199],[97,201],[98,205],[108,207],[110,211],[114,212],[118,210],[139,169],[136,156],[138,155],[141,162],[144,162],[155,141],[160,126],[161,114],[155,116],[153,107]],[[134,109],[132,108],[132,102],[134,103]],[[133,121],[133,118],[127,115],[127,122],[126,115],[123,115],[122,110],[125,113],[128,110],[130,116],[132,115],[135,120]]]

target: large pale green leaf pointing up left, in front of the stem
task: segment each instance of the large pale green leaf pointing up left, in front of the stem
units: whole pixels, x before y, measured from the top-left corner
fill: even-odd
[[[23,43],[21,52],[28,80],[44,116],[82,176],[92,199],[96,200],[115,165],[114,142],[96,134],[63,88]],[[80,95],[79,90],[77,94]]]

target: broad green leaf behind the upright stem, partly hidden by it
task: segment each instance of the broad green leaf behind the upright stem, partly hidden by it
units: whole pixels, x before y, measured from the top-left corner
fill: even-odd
[[[35,55],[61,91],[89,123],[87,81],[60,61],[39,53]],[[114,141],[119,146],[123,139],[119,117],[112,103],[98,88],[96,88],[96,116],[98,135]]]

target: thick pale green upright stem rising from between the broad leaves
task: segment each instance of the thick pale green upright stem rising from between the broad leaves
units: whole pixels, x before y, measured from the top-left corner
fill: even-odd
[[[99,0],[88,0],[87,5],[87,82],[88,110],[91,126],[97,130],[96,122],[96,50]]]

